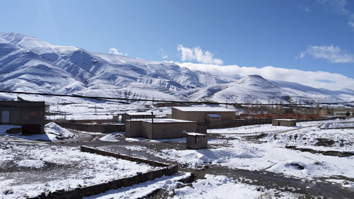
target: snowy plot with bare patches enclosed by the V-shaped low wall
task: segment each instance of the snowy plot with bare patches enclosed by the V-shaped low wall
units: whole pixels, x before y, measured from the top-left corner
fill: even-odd
[[[26,198],[71,190],[159,169],[148,164],[80,152],[78,147],[0,143],[0,193]]]

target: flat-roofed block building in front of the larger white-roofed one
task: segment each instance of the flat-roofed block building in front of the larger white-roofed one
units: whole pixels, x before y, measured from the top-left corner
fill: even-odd
[[[164,119],[125,120],[125,137],[145,137],[147,139],[169,139],[185,137],[186,132],[195,132],[195,121]]]

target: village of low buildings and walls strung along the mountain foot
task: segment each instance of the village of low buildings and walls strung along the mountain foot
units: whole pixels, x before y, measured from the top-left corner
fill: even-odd
[[[21,125],[22,134],[44,132],[45,102],[1,101],[1,125]],[[164,139],[183,137],[187,132],[242,125],[270,124],[274,119],[324,120],[353,117],[354,108],[346,106],[248,106],[245,108],[171,107],[171,114],[128,112],[112,115],[110,120],[56,120],[62,127],[91,132],[125,132],[126,137]]]

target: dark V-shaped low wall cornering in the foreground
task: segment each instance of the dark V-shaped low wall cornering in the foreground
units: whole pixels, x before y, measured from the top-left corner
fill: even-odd
[[[147,159],[139,159],[135,157],[128,157],[126,155],[122,154],[115,154],[112,152],[106,152],[103,150],[99,149],[93,149],[90,147],[84,147],[81,146],[81,152],[90,152],[90,153],[95,153],[95,154],[101,154],[103,156],[109,156],[109,157],[117,157],[120,159],[127,159],[130,161],[137,161],[139,163],[146,163],[151,166],[165,166],[162,169],[156,170],[156,171],[149,171],[147,173],[138,173],[135,176],[130,176],[127,178],[121,178],[115,181],[109,181],[106,183],[100,183],[96,184],[93,186],[85,186],[81,188],[76,188],[71,191],[65,191],[64,189],[58,190],[55,192],[51,193],[42,193],[42,195],[39,195],[38,197],[35,197],[33,199],[73,199],[73,198],[83,198],[85,196],[89,195],[96,195],[98,193],[103,193],[105,191],[111,190],[111,189],[116,189],[116,188],[122,188],[125,186],[132,186],[136,183],[143,183],[146,181],[151,181],[154,178],[159,178],[161,176],[171,176],[173,174],[176,174],[178,172],[178,166],[177,165],[169,165],[169,164],[163,164],[158,161],[150,161]]]

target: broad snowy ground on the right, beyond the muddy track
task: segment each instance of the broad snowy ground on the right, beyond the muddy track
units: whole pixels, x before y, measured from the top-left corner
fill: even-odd
[[[332,120],[331,123],[343,123]],[[346,120],[354,123],[354,120]],[[165,159],[178,161],[190,168],[218,164],[235,169],[272,171],[297,178],[354,178],[354,157],[325,156],[287,149],[285,146],[306,147],[316,150],[354,152],[353,128],[323,130],[322,122],[298,123],[297,127],[253,125],[208,130],[225,140],[210,140],[209,149],[163,149]],[[327,139],[327,142],[322,143]],[[213,145],[217,144],[217,147]]]

